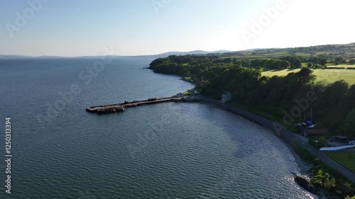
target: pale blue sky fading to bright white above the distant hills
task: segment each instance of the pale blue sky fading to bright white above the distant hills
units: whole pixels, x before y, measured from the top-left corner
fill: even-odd
[[[157,55],[355,42],[353,0],[0,0],[0,4],[0,55]]]

